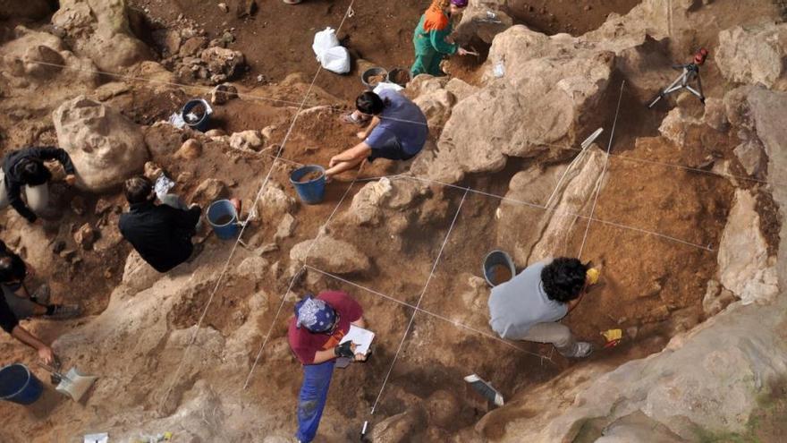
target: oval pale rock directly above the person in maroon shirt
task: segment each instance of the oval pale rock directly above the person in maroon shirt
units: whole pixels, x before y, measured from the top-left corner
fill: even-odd
[[[320,235],[292,247],[290,259],[334,274],[367,271],[371,263],[366,254],[351,243]]]

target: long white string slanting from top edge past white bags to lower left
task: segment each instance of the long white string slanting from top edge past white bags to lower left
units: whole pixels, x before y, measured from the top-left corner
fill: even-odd
[[[344,13],[344,16],[342,18],[342,22],[339,24],[339,28],[337,28],[337,32],[342,29],[344,21],[347,19],[347,14],[351,11],[351,7],[352,7],[352,4],[354,2],[355,2],[355,0],[351,1],[350,6],[347,8],[347,11]],[[320,72],[322,72],[322,65],[319,65],[317,67],[317,72],[315,73],[314,78],[312,79],[311,83],[309,84],[309,89],[307,89],[306,94],[303,96],[303,99],[300,102],[300,107],[298,109],[298,112],[296,112],[295,115],[292,117],[292,123],[290,124],[290,127],[288,128],[287,132],[284,134],[284,138],[282,140],[282,144],[279,146],[279,149],[276,152],[276,158],[274,159],[273,163],[271,164],[271,167],[268,170],[267,175],[265,176],[265,179],[263,180],[262,184],[260,185],[259,190],[257,192],[257,195],[255,196],[254,201],[251,204],[251,208],[257,208],[258,200],[262,196],[262,192],[265,190],[265,186],[268,183],[268,181],[270,179],[270,176],[273,174],[273,171],[274,171],[274,168],[275,168],[275,164],[278,161],[278,158],[280,158],[281,155],[282,155],[284,146],[286,145],[287,141],[290,138],[290,135],[292,134],[292,129],[295,127],[295,124],[297,124],[297,122],[298,122],[298,117],[300,116],[300,110],[303,109],[303,106],[305,105],[306,100],[309,98],[309,94],[311,94],[311,90],[314,88],[314,84],[317,82],[317,77],[319,77]],[[351,187],[352,186],[348,187],[348,192],[349,192]],[[345,192],[345,195],[346,195],[346,192]],[[241,225],[241,232],[238,234],[238,238],[233,243],[233,249],[230,251],[230,255],[227,257],[227,260],[224,263],[224,267],[222,268],[221,272],[219,273],[218,277],[216,278],[216,285],[214,286],[213,290],[211,291],[210,296],[207,299],[207,302],[205,303],[205,308],[203,309],[202,314],[199,316],[199,320],[197,321],[196,328],[194,328],[194,333],[191,335],[189,342],[186,344],[186,347],[183,350],[183,354],[182,354],[182,357],[181,357],[181,362],[178,364],[177,370],[173,374],[173,379],[172,379],[172,382],[169,384],[169,388],[167,388],[165,390],[165,394],[164,394],[164,396],[161,399],[161,403],[159,404],[159,410],[163,410],[164,409],[164,405],[166,403],[166,400],[169,398],[170,393],[172,392],[175,384],[177,383],[178,378],[181,375],[183,364],[187,360],[187,357],[189,355],[189,351],[191,349],[191,346],[197,340],[197,336],[199,335],[199,329],[202,326],[202,322],[204,321],[205,317],[207,316],[207,311],[209,310],[210,305],[213,302],[214,297],[216,296],[216,292],[218,291],[219,285],[221,285],[221,283],[222,283],[222,281],[224,279],[224,276],[226,275],[226,271],[227,271],[227,269],[230,266],[230,262],[233,260],[233,256],[235,254],[235,251],[237,251],[238,245],[241,243],[241,238],[243,236],[243,233],[246,231],[246,227],[249,226],[249,221],[250,221],[250,218],[253,216],[253,212],[254,211],[250,210],[249,215],[247,216],[245,222]]]

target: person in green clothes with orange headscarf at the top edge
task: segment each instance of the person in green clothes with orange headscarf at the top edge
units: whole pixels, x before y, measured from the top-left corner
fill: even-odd
[[[427,12],[421,16],[412,36],[415,46],[415,63],[410,68],[413,76],[421,73],[445,75],[440,62],[445,55],[467,55],[468,52],[448,37],[453,31],[451,15],[461,13],[468,0],[433,0]]]

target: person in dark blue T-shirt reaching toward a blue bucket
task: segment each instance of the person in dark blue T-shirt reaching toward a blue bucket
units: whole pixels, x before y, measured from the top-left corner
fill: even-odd
[[[358,119],[371,118],[365,131],[358,132],[363,139],[358,145],[331,158],[326,171],[328,178],[360,165],[364,158],[409,160],[423,149],[429,128],[427,117],[409,98],[384,89],[379,95],[364,92],[355,100]],[[359,116],[360,115],[360,116]]]

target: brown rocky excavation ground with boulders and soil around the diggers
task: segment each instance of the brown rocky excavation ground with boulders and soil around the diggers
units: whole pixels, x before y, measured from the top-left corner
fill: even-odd
[[[56,144],[79,171],[76,189],[53,186],[55,219],[0,215],[2,239],[55,299],[86,307],[26,326],[101,377],[80,404],[48,389],[29,408],[0,405],[13,423],[2,440],[288,441],[292,303],[342,288],[377,348],[335,374],[317,441],[358,439],[367,421],[376,442],[780,441],[779,4],[473,0],[457,38],[482,55],[405,89],[429,121],[424,152],[302,205],[289,173],[357,140],[338,117],[360,68],[410,64],[426,2],[353,2],[339,30],[353,72],[313,77],[314,32],[338,28],[350,4],[29,0],[0,12],[0,149]],[[711,52],[705,106],[684,94],[647,109],[699,46]],[[167,123],[192,97],[214,103],[208,132]],[[157,274],[116,230],[119,185],[140,172],[202,205],[240,199],[242,243],[206,229],[196,260]],[[603,267],[565,320],[596,354],[571,362],[494,336],[479,268],[495,248],[518,268],[563,254]],[[600,349],[609,328],[622,344]],[[48,379],[10,337],[0,349]],[[490,410],[461,380],[472,372],[508,405]]]

